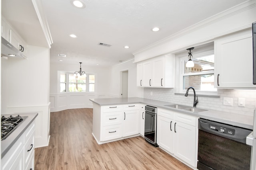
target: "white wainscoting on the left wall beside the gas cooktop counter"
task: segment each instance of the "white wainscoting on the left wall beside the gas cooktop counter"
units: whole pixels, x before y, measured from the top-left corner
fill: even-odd
[[[7,107],[7,113],[32,113],[37,112],[35,147],[46,147],[50,140],[50,102],[45,106]]]

